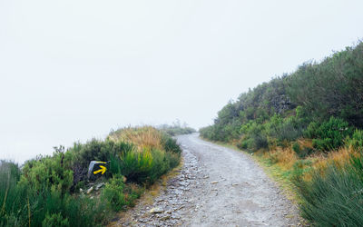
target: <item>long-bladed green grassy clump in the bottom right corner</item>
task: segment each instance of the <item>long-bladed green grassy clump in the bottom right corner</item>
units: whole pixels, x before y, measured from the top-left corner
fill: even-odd
[[[301,176],[300,174],[299,176]],[[310,182],[296,177],[302,198],[302,214],[317,226],[363,225],[363,159],[351,157],[343,168],[330,163],[322,175],[314,172]]]

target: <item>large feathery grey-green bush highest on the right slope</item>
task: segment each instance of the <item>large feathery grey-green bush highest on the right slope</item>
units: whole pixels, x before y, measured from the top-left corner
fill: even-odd
[[[302,64],[287,77],[287,93],[317,120],[331,115],[363,125],[363,43],[337,52],[321,63]]]

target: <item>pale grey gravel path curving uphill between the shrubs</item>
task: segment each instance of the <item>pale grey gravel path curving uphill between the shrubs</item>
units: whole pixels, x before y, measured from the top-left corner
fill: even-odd
[[[118,222],[124,226],[297,226],[297,208],[245,153],[178,136],[181,173],[155,198]]]

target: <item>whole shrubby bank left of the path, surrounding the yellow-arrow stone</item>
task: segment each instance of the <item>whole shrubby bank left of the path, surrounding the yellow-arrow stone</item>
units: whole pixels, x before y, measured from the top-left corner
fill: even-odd
[[[177,166],[181,153],[170,135],[146,126],[56,147],[23,166],[0,161],[0,226],[103,226]],[[93,160],[110,163],[89,182]]]

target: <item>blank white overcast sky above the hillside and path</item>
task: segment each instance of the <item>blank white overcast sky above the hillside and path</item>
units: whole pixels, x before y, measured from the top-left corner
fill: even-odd
[[[132,124],[199,128],[363,38],[363,1],[0,0],[0,159]]]

